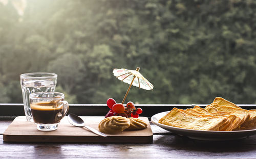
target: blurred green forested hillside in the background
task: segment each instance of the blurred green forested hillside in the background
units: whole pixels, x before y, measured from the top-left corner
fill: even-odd
[[[71,103],[121,102],[136,69],[153,91],[126,101],[256,103],[256,1],[28,1],[20,19],[0,4],[0,102],[22,103],[19,74],[55,72]]]

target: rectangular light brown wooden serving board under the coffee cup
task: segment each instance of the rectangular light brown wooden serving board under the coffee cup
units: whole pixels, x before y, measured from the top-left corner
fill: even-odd
[[[85,125],[98,130],[98,123],[104,117],[83,116]],[[35,123],[28,122],[25,116],[16,117],[4,132],[6,142],[84,142],[84,143],[152,143],[153,133],[147,117],[139,117],[147,123],[142,130],[124,130],[120,134],[101,137],[87,128],[71,125],[68,118],[60,121],[57,130],[40,131]]]

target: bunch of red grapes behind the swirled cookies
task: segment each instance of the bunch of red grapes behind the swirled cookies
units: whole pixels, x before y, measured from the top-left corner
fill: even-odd
[[[116,103],[116,101],[113,98],[109,98],[106,100],[106,105],[110,108],[110,111],[108,114],[106,114],[105,118],[111,117],[111,116],[122,116],[126,118],[138,118],[139,114],[142,113],[141,108],[135,108],[134,103],[132,101],[129,101],[126,103],[126,107],[124,107],[121,103]]]

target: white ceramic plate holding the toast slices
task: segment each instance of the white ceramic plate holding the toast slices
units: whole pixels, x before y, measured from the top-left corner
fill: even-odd
[[[173,127],[173,126],[168,126],[168,125],[158,123],[159,119],[161,119],[167,113],[169,113],[169,111],[158,113],[152,116],[151,121],[155,125],[160,126],[163,129],[166,129],[180,136],[186,136],[191,139],[208,140],[208,141],[225,141],[225,140],[243,139],[256,134],[256,129],[239,130],[239,131],[206,131],[206,130],[193,130],[193,129],[179,128],[179,127]]]

